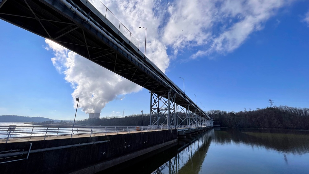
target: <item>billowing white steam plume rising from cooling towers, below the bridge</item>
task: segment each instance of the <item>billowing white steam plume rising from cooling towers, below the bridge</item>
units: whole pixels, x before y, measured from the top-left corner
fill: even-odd
[[[79,97],[79,108],[85,113],[101,112],[105,105],[123,95],[138,92],[139,85],[67,50],[66,48],[45,40],[47,48],[52,49],[55,57],[52,62],[56,69],[65,75],[71,83],[75,106],[75,98]]]

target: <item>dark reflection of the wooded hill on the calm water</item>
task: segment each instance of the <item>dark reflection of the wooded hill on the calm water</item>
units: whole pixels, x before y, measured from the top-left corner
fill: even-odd
[[[214,141],[220,144],[243,143],[285,154],[306,154],[309,152],[309,131],[221,128],[220,131],[215,131],[214,137]]]

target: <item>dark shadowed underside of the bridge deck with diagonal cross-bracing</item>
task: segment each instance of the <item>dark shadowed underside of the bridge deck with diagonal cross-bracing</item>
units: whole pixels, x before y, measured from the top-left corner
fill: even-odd
[[[97,17],[93,13],[90,16]],[[156,79],[146,74],[142,67],[130,59],[130,56],[122,49],[97,32],[71,10],[66,9],[57,0],[6,1],[0,8],[0,18],[53,40],[151,91],[167,89],[166,86],[161,85]],[[100,20],[98,19],[98,21]],[[100,24],[109,29],[105,23],[101,22]],[[113,33],[113,36],[118,35],[111,29],[108,31]],[[122,40],[121,37],[117,39]],[[138,53],[135,52],[135,54]]]

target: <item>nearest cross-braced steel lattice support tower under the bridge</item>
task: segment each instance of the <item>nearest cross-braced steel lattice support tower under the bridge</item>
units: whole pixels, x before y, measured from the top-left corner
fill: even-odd
[[[176,126],[175,93],[170,91],[150,92],[150,125]],[[164,97],[163,97],[164,96]],[[167,98],[165,98],[167,97]]]

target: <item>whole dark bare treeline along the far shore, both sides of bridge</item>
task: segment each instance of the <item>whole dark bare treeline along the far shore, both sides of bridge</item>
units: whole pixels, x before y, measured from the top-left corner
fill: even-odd
[[[309,108],[296,108],[288,106],[256,108],[249,111],[227,112],[212,110],[208,115],[214,118],[214,124],[228,128],[287,128],[287,129],[309,129]],[[178,123],[187,125],[186,114],[181,113]],[[159,120],[161,125],[166,119],[162,115]],[[166,122],[165,122],[166,123]],[[101,126],[140,126],[142,115],[135,114],[125,117],[102,117],[100,119],[85,119],[77,121],[79,125],[101,125]],[[143,125],[149,125],[149,114],[143,114]]]

